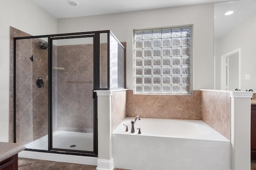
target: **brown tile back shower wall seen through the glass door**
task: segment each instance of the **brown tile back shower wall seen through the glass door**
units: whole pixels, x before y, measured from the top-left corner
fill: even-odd
[[[53,67],[54,130],[93,130],[93,45],[58,46]]]

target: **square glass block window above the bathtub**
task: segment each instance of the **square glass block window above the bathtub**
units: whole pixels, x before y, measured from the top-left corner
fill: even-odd
[[[134,93],[192,94],[191,27],[134,31]]]

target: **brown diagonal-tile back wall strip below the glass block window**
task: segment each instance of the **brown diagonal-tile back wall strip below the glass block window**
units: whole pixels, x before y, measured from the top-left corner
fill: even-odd
[[[126,116],[201,120],[201,91],[194,95],[141,95],[127,91]]]

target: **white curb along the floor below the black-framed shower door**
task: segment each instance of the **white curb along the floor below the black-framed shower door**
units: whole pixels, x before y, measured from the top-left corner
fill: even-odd
[[[58,162],[68,162],[75,164],[85,164],[85,165],[97,165],[97,157],[92,156],[77,156],[77,155],[68,155],[68,154],[55,154],[55,153],[46,153],[46,152],[34,152],[23,150],[18,153],[19,158],[31,158],[39,160],[50,160]]]

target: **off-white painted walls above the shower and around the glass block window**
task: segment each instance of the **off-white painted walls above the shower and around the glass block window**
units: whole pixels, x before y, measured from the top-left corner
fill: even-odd
[[[127,88],[133,88],[133,29],[193,25],[194,90],[212,89],[214,5],[56,19],[30,0],[0,0],[0,141],[8,141],[9,27],[31,35],[111,30],[127,42]],[[58,26],[58,29],[57,29]]]

